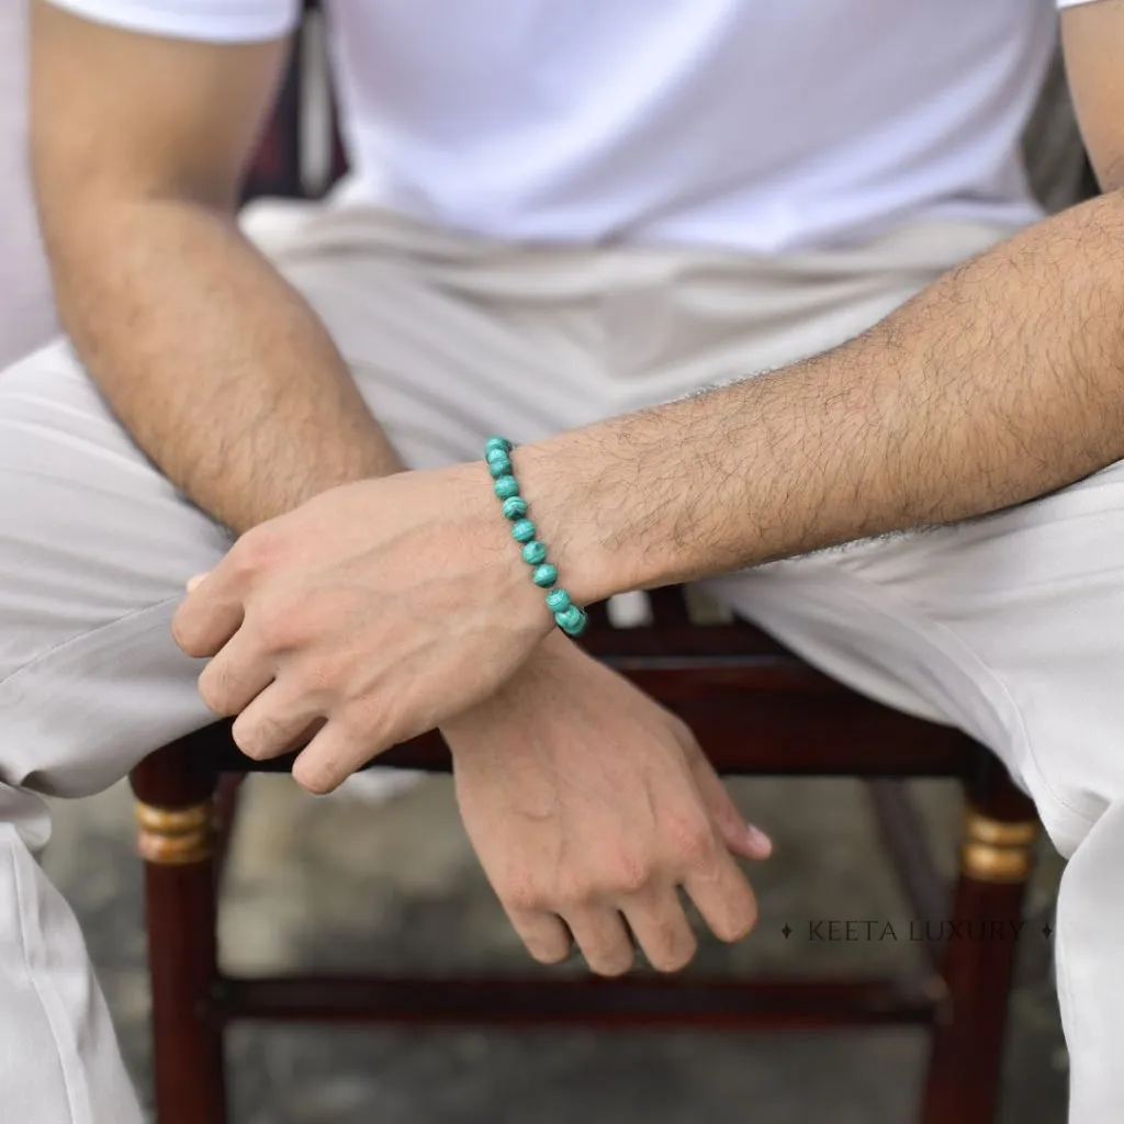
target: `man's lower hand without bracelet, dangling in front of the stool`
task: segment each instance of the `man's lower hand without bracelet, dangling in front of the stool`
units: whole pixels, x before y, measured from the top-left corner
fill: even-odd
[[[635,936],[662,971],[696,941],[687,891],[724,941],[756,904],[732,854],[763,859],[691,732],[560,634],[487,703],[443,727],[469,836],[531,954],[617,976]]]

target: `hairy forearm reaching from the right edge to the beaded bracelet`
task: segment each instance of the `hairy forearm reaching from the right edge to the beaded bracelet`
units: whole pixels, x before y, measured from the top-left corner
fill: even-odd
[[[824,355],[518,455],[587,599],[1071,483],[1124,456],[1124,196],[1023,232]]]

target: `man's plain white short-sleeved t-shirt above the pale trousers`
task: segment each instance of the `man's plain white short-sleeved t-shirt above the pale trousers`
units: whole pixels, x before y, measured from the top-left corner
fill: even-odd
[[[279,36],[299,7],[55,2],[218,42]],[[925,219],[1037,215],[1018,143],[1054,0],[325,7],[354,169],[345,194],[427,221],[778,253]]]

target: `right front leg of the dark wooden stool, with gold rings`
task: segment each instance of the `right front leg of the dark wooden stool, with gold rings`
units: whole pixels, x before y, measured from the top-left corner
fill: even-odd
[[[992,1124],[996,1118],[1007,1006],[1037,832],[1033,805],[1005,776],[981,804],[968,805],[942,958],[948,1016],[933,1034],[923,1124]]]

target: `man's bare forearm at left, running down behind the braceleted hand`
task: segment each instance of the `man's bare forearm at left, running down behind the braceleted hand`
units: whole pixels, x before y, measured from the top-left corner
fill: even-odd
[[[399,468],[315,314],[233,219],[120,202],[51,242],[63,320],[92,377],[220,522],[245,531]]]

